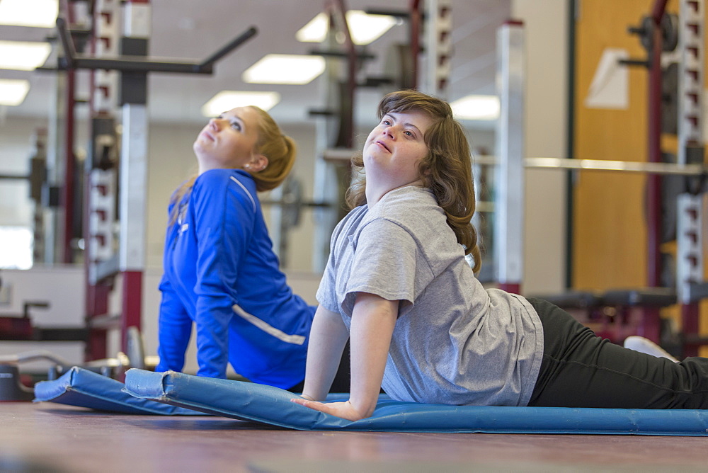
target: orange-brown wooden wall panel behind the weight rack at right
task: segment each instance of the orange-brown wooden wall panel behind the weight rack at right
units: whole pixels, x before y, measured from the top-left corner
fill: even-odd
[[[646,58],[639,37],[629,34],[627,28],[639,25],[641,18],[651,13],[654,3],[651,0],[622,0],[607,8],[607,2],[603,0],[577,2],[573,157],[647,161],[649,73],[646,68],[629,67],[627,108],[588,108],[585,101],[605,48],[627,50],[632,59]],[[667,4],[670,13],[678,13],[678,8],[678,1]],[[708,35],[706,39],[708,47]],[[662,150],[676,153],[674,135],[662,136]],[[633,173],[582,171],[576,174],[572,222],[573,287],[605,290],[647,285],[646,181],[645,175]],[[663,244],[662,250],[675,253],[675,242]],[[703,302],[703,334],[708,333],[707,310],[708,303]],[[678,307],[663,311],[663,316],[672,317],[678,323]],[[703,350],[702,354],[707,355],[708,348]]]

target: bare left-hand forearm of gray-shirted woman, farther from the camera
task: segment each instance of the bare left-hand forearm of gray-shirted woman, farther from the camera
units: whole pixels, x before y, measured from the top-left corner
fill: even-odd
[[[317,307],[307,346],[304,397],[324,400],[337,374],[349,331],[336,312]]]

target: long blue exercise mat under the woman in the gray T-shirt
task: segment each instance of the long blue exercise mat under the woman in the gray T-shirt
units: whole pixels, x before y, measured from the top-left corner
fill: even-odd
[[[447,406],[379,399],[370,418],[346,421],[291,402],[277,387],[178,372],[128,370],[125,390],[207,414],[308,431],[708,435],[708,410]]]

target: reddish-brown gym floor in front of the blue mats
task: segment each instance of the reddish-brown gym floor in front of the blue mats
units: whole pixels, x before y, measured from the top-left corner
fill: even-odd
[[[708,437],[301,432],[0,403],[0,472],[708,472]]]

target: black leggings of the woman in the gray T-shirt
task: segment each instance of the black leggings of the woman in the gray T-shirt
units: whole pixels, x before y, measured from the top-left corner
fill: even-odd
[[[600,338],[571,314],[529,299],[544,353],[529,406],[708,409],[708,358],[674,363]]]

